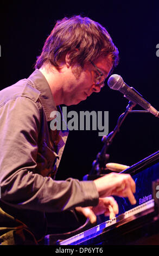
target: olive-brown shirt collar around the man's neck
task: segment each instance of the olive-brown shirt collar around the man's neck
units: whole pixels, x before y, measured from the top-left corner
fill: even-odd
[[[40,92],[40,100],[46,114],[47,121],[53,120],[54,117],[50,117],[50,113],[57,111],[52,92],[49,84],[39,69],[36,69],[29,77],[34,87]]]

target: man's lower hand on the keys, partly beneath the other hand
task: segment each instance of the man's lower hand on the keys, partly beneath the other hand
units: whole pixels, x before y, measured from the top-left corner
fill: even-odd
[[[76,207],[75,210],[89,218],[92,224],[96,223],[97,215],[104,214],[105,216],[110,216],[111,220],[119,212],[118,204],[113,197],[99,198],[97,206]]]

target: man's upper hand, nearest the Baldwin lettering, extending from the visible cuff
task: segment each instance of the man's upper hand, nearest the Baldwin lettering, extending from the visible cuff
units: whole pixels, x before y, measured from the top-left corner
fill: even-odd
[[[110,173],[94,180],[99,197],[128,197],[131,204],[136,204],[133,193],[136,191],[135,181],[130,174]]]

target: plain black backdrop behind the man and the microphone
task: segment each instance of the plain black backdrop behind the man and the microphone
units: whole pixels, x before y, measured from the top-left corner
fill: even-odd
[[[159,109],[158,1],[1,1],[0,9],[1,89],[34,71],[36,56],[56,20],[81,14],[106,27],[118,47],[120,63],[114,73]],[[68,111],[109,111],[110,132],[127,105],[122,94],[106,85]],[[159,119],[154,115],[129,114],[109,148],[110,162],[131,165],[155,153],[158,128]],[[82,179],[102,147],[98,131],[71,131],[57,179]]]

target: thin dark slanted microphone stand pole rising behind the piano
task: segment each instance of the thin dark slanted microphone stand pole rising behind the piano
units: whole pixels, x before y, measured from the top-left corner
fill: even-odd
[[[128,106],[123,114],[120,115],[117,121],[117,125],[115,129],[109,133],[107,136],[103,136],[102,142],[104,142],[104,146],[101,149],[100,153],[97,154],[96,160],[93,161],[92,169],[89,175],[101,175],[104,172],[105,165],[109,160],[109,154],[107,150],[112,143],[113,138],[116,136],[117,132],[119,132],[119,128],[125,120],[126,116],[132,111],[132,108],[136,106],[136,103],[129,101]]]

